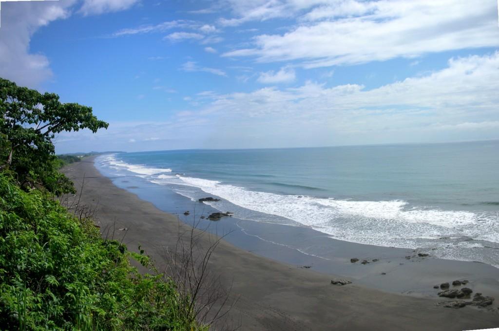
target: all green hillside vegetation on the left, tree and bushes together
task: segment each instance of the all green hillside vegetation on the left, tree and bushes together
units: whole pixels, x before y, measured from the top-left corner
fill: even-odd
[[[135,259],[154,271],[142,250],[103,239],[91,217],[53,198],[74,191],[57,169],[76,161],[55,157],[53,134],[107,123],[4,79],[0,112],[0,329],[207,329],[175,282],[131,266]]]

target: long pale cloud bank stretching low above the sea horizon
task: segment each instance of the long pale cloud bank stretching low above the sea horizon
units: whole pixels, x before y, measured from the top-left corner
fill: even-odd
[[[309,81],[248,93],[207,91],[191,99],[204,106],[162,123],[111,123],[94,138],[69,136],[105,146],[135,139],[138,144],[123,147],[130,151],[499,139],[497,77],[499,52],[452,58],[442,70],[371,90]],[[58,147],[70,146],[64,144],[70,143]]]

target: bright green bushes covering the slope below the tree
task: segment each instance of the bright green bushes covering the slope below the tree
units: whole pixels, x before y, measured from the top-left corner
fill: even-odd
[[[47,193],[0,173],[0,325],[6,330],[206,330],[149,259],[104,240]]]

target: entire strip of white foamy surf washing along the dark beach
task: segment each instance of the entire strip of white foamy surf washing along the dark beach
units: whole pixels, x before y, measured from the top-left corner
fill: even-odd
[[[495,237],[497,231],[491,230],[496,228],[498,216],[493,213],[415,208],[403,200],[354,201],[282,195],[192,177],[189,173],[172,173],[170,168],[133,165],[116,155],[105,155],[97,161],[107,175],[138,176],[194,201],[205,195],[217,196],[221,200],[210,202],[211,207],[234,211],[245,220],[305,226],[343,241],[420,248],[444,259],[499,266],[499,244],[495,242],[499,239]],[[137,182],[138,186],[144,184]],[[311,254],[322,256],[320,251]]]

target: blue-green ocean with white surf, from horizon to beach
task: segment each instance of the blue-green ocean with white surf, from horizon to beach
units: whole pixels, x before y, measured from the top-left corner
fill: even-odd
[[[499,267],[499,141],[114,153],[95,165],[154,196],[220,198],[206,204],[251,224]],[[327,258],[320,245],[296,249]]]

